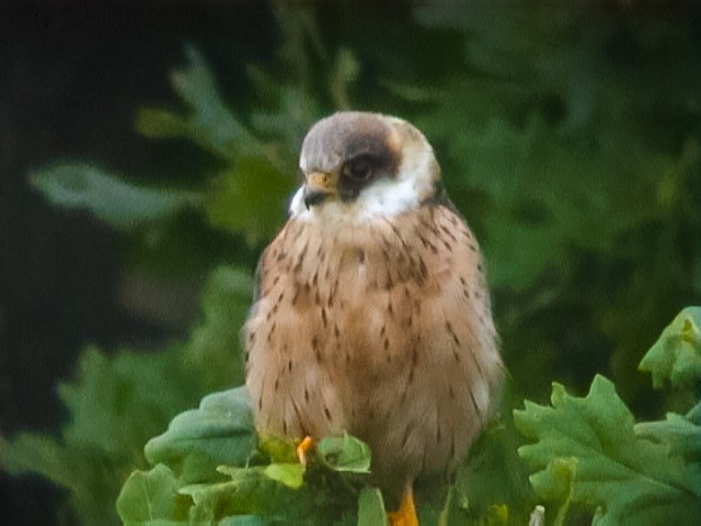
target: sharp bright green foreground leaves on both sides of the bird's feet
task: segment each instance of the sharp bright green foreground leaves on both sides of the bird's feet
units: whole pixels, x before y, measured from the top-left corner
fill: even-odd
[[[701,307],[679,313],[641,368],[657,385],[701,382]],[[526,401],[515,422],[537,441],[521,446],[519,455],[539,470],[530,482],[556,510],[554,524],[567,524],[573,504],[594,514],[595,524],[698,524],[701,401],[686,415],[668,413],[665,421],[635,424],[611,381],[597,376],[586,398],[554,384],[551,402]],[[256,442],[243,388],[206,397],[198,410],[176,416],[168,432],[147,444],[154,467],[134,472],[123,488],[117,500],[123,523],[386,524],[379,491],[361,478],[371,453],[359,441],[324,438],[307,469],[296,459],[295,444],[263,437],[256,447]],[[496,446],[482,444],[473,454],[473,469],[489,448]],[[506,471],[491,467],[492,477],[507,480]],[[518,512],[528,499],[510,508],[491,502],[486,516],[479,515],[474,476],[462,471],[440,510],[423,503],[423,524],[526,523]]]

